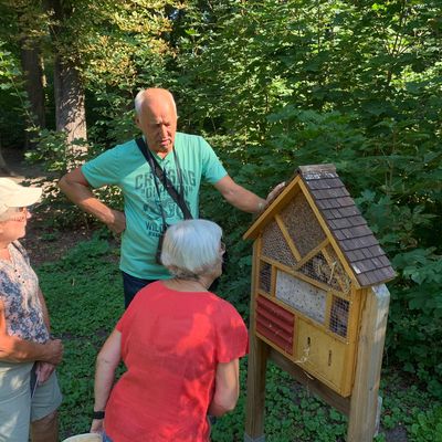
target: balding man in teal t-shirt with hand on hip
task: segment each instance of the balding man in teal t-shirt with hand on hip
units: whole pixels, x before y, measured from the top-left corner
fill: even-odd
[[[213,185],[235,208],[257,213],[266,200],[236,185],[210,145],[200,136],[177,131],[177,107],[164,88],[140,91],[135,98],[136,125],[144,137],[118,145],[60,180],[61,190],[84,211],[122,233],[120,270],[126,307],[145,285],[170,277],[157,262],[158,244],[167,225],[198,218],[201,180]],[[140,145],[147,145],[143,154]],[[159,168],[160,172],[156,171]],[[162,175],[161,175],[162,173]],[[167,178],[169,183],[167,183]],[[177,190],[177,203],[167,187]],[[124,213],[94,197],[91,188],[118,186]],[[271,192],[267,200],[273,198]]]

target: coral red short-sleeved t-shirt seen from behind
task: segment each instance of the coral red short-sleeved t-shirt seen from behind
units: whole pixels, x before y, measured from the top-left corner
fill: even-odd
[[[248,330],[235,308],[207,292],[156,282],[119,319],[127,371],[106,406],[114,442],[207,442],[217,365],[244,356]]]

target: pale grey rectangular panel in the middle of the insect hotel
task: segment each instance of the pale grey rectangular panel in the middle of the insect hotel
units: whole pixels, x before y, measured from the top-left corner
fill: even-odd
[[[284,272],[276,272],[276,298],[324,324],[327,293]]]

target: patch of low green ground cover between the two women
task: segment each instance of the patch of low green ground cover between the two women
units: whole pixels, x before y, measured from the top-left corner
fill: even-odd
[[[51,313],[52,334],[64,344],[64,359],[57,368],[64,396],[64,435],[88,431],[95,358],[123,313],[120,273],[116,260],[109,261],[114,252],[107,241],[95,236],[59,262],[38,270]]]

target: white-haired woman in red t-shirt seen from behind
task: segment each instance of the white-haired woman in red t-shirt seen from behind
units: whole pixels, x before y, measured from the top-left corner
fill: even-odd
[[[210,293],[221,275],[219,225],[206,220],[168,228],[161,261],[173,275],[138,292],[98,357],[94,420],[110,442],[207,442],[208,415],[232,410],[245,325]],[[123,359],[127,371],[114,388]]]

